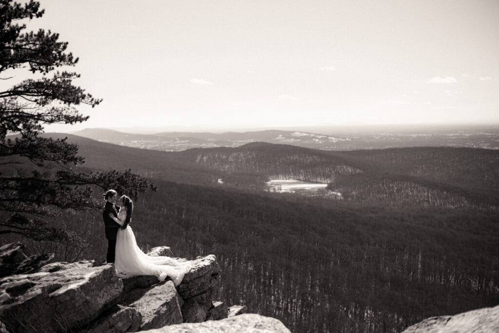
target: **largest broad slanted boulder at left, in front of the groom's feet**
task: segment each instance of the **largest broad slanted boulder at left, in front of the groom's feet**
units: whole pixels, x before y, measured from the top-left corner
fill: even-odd
[[[4,277],[0,321],[12,332],[77,330],[114,306],[122,291],[110,265]]]

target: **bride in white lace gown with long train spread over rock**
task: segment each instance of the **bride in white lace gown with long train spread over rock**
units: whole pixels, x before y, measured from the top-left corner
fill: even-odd
[[[137,246],[132,228],[128,226],[132,217],[133,202],[124,195],[120,198],[120,206],[118,218],[109,214],[110,218],[122,226],[116,236],[114,268],[117,275],[121,278],[155,275],[159,281],[164,281],[168,276],[175,286],[180,285],[184,275],[190,271],[191,263],[170,257],[151,257],[142,252]]]

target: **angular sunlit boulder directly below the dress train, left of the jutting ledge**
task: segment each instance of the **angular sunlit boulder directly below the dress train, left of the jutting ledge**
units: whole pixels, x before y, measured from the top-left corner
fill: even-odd
[[[140,313],[140,331],[182,323],[183,301],[172,281],[131,290],[120,301],[120,305],[132,307]]]

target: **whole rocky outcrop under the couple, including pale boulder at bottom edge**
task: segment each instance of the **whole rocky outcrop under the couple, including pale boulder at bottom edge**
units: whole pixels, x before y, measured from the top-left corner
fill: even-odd
[[[2,264],[10,271],[27,258],[22,244],[2,249]],[[154,248],[149,255],[173,257],[168,247]],[[0,332],[124,333],[206,321],[211,324],[200,330],[227,330],[234,325],[227,332],[260,332],[255,328],[289,332],[279,321],[256,315],[215,324],[246,312],[246,307],[214,302],[221,274],[214,255],[191,263],[192,269],[177,287],[170,279],[159,282],[155,276],[120,279],[113,265],[100,266],[95,261],[51,263],[36,273],[0,278]]]

